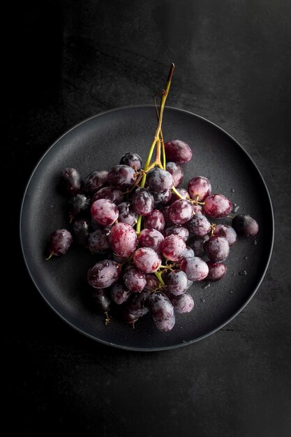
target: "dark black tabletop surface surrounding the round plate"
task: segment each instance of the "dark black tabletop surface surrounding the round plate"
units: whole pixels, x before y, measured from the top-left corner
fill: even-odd
[[[26,1],[3,20],[8,435],[290,436],[290,2]],[[275,244],[258,292],[226,327],[135,353],[87,339],[43,302],[20,252],[20,202],[59,135],[103,110],[152,103],[171,62],[167,104],[214,121],[260,168]]]

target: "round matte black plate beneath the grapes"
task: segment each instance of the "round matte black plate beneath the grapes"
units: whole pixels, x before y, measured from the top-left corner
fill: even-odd
[[[195,308],[177,315],[170,332],[158,332],[149,314],[135,329],[112,318],[104,324],[87,301],[87,270],[96,258],[74,247],[63,257],[45,260],[50,233],[68,227],[67,200],[57,191],[59,173],[75,167],[85,177],[96,169],[119,164],[126,151],[145,160],[156,131],[152,106],[135,106],[103,112],[70,129],[47,150],[33,171],[24,193],[20,237],[27,269],[47,304],[70,326],[96,341],[118,348],[162,350],[184,346],[216,332],[248,304],[258,290],[271,256],[274,218],[267,186],[246,151],[221,128],[191,112],[166,108],[165,140],[179,138],[193,149],[184,165],[184,185],[195,175],[211,180],[213,193],[223,193],[251,214],[260,232],[240,239],[227,259],[227,274],[217,283],[195,283]],[[244,274],[246,272],[246,274]]]

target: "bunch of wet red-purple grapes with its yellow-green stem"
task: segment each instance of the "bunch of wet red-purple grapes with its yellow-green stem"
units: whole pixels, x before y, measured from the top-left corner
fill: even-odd
[[[225,276],[225,260],[237,234],[258,232],[258,223],[246,214],[231,217],[231,225],[212,223],[216,218],[228,221],[232,203],[211,193],[207,177],[195,176],[188,190],[179,188],[192,150],[181,140],[164,142],[161,131],[173,68],[144,167],[138,154],[127,152],[119,165],[96,170],[84,180],[75,168],[61,172],[59,184],[70,195],[70,231],[50,235],[48,257],[64,255],[73,241],[98,255],[87,281],[91,302],[105,313],[105,323],[114,306],[133,325],[150,313],[163,332],[174,327],[177,313],[192,311],[193,282]]]

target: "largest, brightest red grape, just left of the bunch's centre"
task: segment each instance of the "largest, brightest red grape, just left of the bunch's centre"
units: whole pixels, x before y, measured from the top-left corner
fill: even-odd
[[[110,232],[109,242],[114,253],[128,258],[133,255],[137,246],[137,235],[128,223],[115,223]]]

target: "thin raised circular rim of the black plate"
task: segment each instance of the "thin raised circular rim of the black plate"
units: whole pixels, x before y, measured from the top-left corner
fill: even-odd
[[[22,251],[22,257],[24,259],[24,264],[27,268],[27,272],[29,273],[29,276],[31,278],[31,281],[33,282],[36,290],[38,290],[38,292],[40,293],[40,296],[43,297],[44,301],[46,302],[46,304],[48,304],[48,306],[50,306],[50,308],[54,311],[55,314],[57,314],[57,316],[59,316],[61,318],[61,320],[64,320],[64,322],[66,322],[70,327],[73,327],[73,329],[75,329],[77,332],[79,332],[82,335],[87,336],[89,339],[92,339],[94,341],[97,341],[98,343],[102,343],[103,345],[106,346],[112,346],[114,348],[117,349],[122,349],[122,350],[132,350],[135,352],[158,352],[161,350],[171,350],[171,349],[177,349],[177,348],[181,348],[183,346],[188,346],[190,344],[193,343],[197,343],[198,341],[201,341],[203,339],[206,339],[208,336],[211,336],[212,334],[214,334],[215,332],[218,332],[220,329],[222,329],[223,327],[225,327],[228,323],[230,323],[232,320],[234,320],[234,318],[236,318],[239,313],[241,313],[241,311],[243,311],[246,306],[249,304],[249,302],[251,302],[251,299],[253,299],[255,293],[258,291],[258,288],[260,288],[260,285],[264,279],[264,276],[267,272],[267,269],[269,267],[269,263],[271,260],[271,255],[274,249],[274,233],[275,233],[275,223],[274,223],[274,209],[273,209],[273,205],[271,202],[271,196],[269,193],[269,189],[267,187],[266,182],[264,181],[264,177],[262,177],[262,173],[260,172],[258,165],[256,165],[255,161],[253,161],[253,158],[251,157],[250,154],[248,154],[248,151],[246,151],[244,149],[244,147],[232,136],[230,135],[230,133],[227,133],[227,131],[225,131],[223,128],[221,128],[221,126],[218,126],[217,124],[215,124],[213,121],[202,117],[199,114],[195,114],[195,112],[191,112],[189,110],[184,110],[181,108],[176,108],[173,106],[165,106],[165,110],[173,110],[173,111],[177,111],[177,112],[184,112],[188,115],[194,116],[198,119],[202,119],[203,121],[205,121],[207,124],[211,124],[211,126],[214,126],[214,128],[218,129],[219,131],[221,131],[224,135],[226,135],[228,138],[230,138],[238,147],[239,149],[241,149],[241,151],[247,156],[247,158],[251,161],[253,167],[255,168],[255,171],[258,173],[258,176],[260,177],[260,181],[262,182],[262,185],[264,186],[264,190],[265,193],[267,194],[267,199],[268,199],[268,206],[269,206],[269,211],[270,211],[270,217],[271,217],[271,245],[270,245],[270,249],[269,249],[269,255],[267,258],[267,262],[266,265],[264,266],[264,270],[260,276],[260,279],[258,281],[257,286],[255,287],[255,289],[253,290],[253,292],[251,293],[251,295],[248,297],[248,299],[246,299],[246,301],[244,302],[244,304],[242,306],[240,306],[240,308],[235,311],[235,313],[232,314],[232,316],[230,318],[227,318],[227,320],[225,320],[225,322],[221,323],[221,325],[218,325],[218,327],[216,327],[215,329],[211,329],[211,331],[207,332],[206,334],[200,335],[197,338],[190,340],[190,341],[184,341],[182,343],[178,343],[178,344],[174,344],[172,346],[159,346],[159,347],[153,347],[153,348],[137,348],[137,347],[133,347],[133,346],[124,346],[124,345],[120,345],[117,343],[112,343],[110,341],[105,341],[102,339],[98,339],[96,338],[96,336],[93,336],[91,334],[89,334],[88,332],[85,332],[84,330],[80,329],[79,327],[77,327],[76,325],[74,325],[73,323],[70,322],[70,320],[67,320],[61,313],[59,313],[59,311],[57,311],[57,309],[54,308],[54,306],[52,306],[52,304],[49,302],[49,300],[43,295],[43,292],[41,292],[40,288],[38,287],[38,285],[36,284],[36,281],[33,278],[33,275],[29,269],[29,265],[27,262],[27,257],[24,253],[24,243],[23,243],[23,237],[22,237],[22,216],[23,216],[23,210],[24,210],[24,203],[25,203],[25,199],[27,196],[27,191],[29,189],[29,185],[31,184],[31,180],[33,179],[33,176],[36,172],[36,170],[38,169],[38,166],[40,165],[41,161],[43,161],[43,159],[45,158],[45,156],[50,152],[50,150],[55,147],[55,145],[57,145],[57,143],[61,140],[61,138],[64,138],[66,135],[68,135],[68,133],[70,133],[71,131],[73,131],[74,129],[78,128],[79,126],[81,126],[82,124],[86,124],[88,121],[91,121],[92,119],[96,119],[98,117],[101,117],[104,114],[108,114],[110,112],[118,112],[118,111],[122,111],[122,110],[129,110],[129,109],[142,109],[142,108],[155,108],[154,105],[151,104],[145,104],[145,105],[125,105],[125,106],[120,106],[120,107],[116,107],[116,108],[112,108],[109,110],[105,110],[102,112],[98,112],[97,114],[91,115],[90,117],[87,117],[86,119],[83,119],[81,121],[79,121],[77,124],[74,124],[73,126],[71,126],[68,130],[66,130],[64,133],[62,133],[61,135],[59,135],[59,137],[54,140],[54,142],[52,142],[52,144],[45,150],[45,152],[43,153],[42,156],[40,156],[40,158],[38,159],[36,165],[34,165],[33,170],[31,171],[31,175],[29,176],[29,179],[27,181],[27,184],[24,188],[24,193],[22,195],[22,201],[21,201],[21,205],[20,205],[20,222],[19,222],[19,236],[20,236],[20,246],[21,246],[21,251]],[[269,235],[270,237],[270,235]]]

